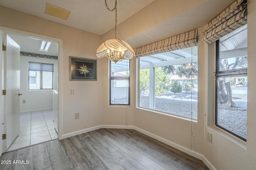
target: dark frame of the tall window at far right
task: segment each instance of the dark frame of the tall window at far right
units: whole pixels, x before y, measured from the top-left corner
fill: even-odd
[[[216,41],[216,71],[215,71],[215,125],[224,131],[242,139],[246,142],[246,139],[237,135],[236,133],[218,125],[218,78],[221,77],[234,77],[234,76],[247,76],[247,69],[248,68],[238,68],[238,69],[231,69],[231,70],[222,70],[220,71],[220,40]],[[247,132],[246,132],[247,133]]]

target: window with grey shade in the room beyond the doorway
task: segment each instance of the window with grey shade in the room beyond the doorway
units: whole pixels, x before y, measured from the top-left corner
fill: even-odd
[[[28,62],[29,90],[53,88],[53,64]]]

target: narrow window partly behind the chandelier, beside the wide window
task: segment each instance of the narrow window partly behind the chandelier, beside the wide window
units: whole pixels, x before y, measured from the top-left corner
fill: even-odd
[[[110,61],[110,105],[130,105],[130,60]]]

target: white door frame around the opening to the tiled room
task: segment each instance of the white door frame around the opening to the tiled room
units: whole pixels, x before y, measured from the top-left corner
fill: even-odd
[[[36,33],[30,33],[30,32],[26,32],[26,31],[20,31],[17,29],[12,29],[12,28],[8,28],[8,27],[2,27],[0,26],[0,44],[3,44],[3,37],[2,37],[2,33],[9,33],[9,34],[16,34],[16,35],[22,35],[22,36],[27,36],[27,37],[33,37],[36,39],[40,39],[40,40],[48,40],[48,41],[53,41],[58,43],[58,139],[62,139],[62,39],[58,39],[58,38],[54,38],[54,37],[48,37],[45,35],[40,35],[40,34],[36,34]],[[3,51],[2,51],[2,47],[0,48],[0,89],[1,89],[1,94],[2,94],[2,66],[3,66]],[[2,95],[0,97],[0,120],[1,120],[1,125],[0,125],[0,134],[2,134],[2,116],[3,116],[3,98]],[[3,140],[2,137],[0,137],[0,156],[2,155],[3,152]]]

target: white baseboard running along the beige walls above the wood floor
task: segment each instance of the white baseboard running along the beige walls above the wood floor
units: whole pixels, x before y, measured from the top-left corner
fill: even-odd
[[[190,150],[188,148],[182,147],[182,146],[180,146],[176,143],[168,141],[167,139],[164,139],[164,138],[162,138],[160,136],[157,136],[153,133],[150,133],[148,131],[140,129],[136,126],[131,126],[131,125],[129,125],[129,126],[126,126],[126,125],[98,125],[98,126],[90,127],[90,128],[83,129],[83,130],[80,130],[80,131],[64,134],[64,135],[62,135],[62,139],[72,137],[72,136],[76,136],[76,135],[80,135],[82,133],[94,131],[94,130],[101,129],[101,128],[104,128],[104,129],[134,129],[134,130],[139,131],[140,133],[143,133],[145,135],[148,135],[149,137],[152,137],[152,138],[154,138],[154,139],[156,139],[156,140],[158,140],[162,143],[165,143],[166,145],[169,145],[171,147],[174,147],[175,149],[181,150],[182,152],[185,152],[185,153],[187,153],[191,156],[194,156],[195,158],[198,158],[198,159],[202,160],[206,164],[206,166],[208,166],[208,168],[210,168],[211,170],[216,170],[216,168],[214,168],[214,166],[212,166],[212,164],[206,158],[204,158],[204,156],[202,154],[200,154],[198,152],[195,152],[193,150]]]

